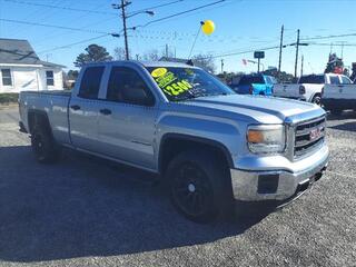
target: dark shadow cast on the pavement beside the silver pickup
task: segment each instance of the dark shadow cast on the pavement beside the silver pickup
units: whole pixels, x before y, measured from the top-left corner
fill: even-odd
[[[117,165],[116,165],[117,166]],[[271,209],[196,225],[147,172],[66,151],[39,165],[30,147],[0,148],[0,260],[116,256],[211,243],[244,233]]]

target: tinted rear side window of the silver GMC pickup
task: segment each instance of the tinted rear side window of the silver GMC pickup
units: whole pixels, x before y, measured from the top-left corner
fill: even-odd
[[[82,76],[79,89],[79,97],[97,99],[100,89],[103,67],[90,67]]]

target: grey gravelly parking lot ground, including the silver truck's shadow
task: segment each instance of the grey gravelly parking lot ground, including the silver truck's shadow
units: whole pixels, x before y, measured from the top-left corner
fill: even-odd
[[[37,164],[17,123],[0,110],[0,266],[355,266],[356,112],[328,118],[310,191],[212,225],[178,215],[146,172],[72,151]]]

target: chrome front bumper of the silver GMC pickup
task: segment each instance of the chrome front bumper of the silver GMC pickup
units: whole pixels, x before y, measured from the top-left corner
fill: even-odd
[[[325,146],[313,157],[299,162],[263,170],[230,169],[234,197],[241,201],[286,200],[304,192],[309,185],[322,178],[326,170],[329,151]],[[300,165],[304,168],[300,169]],[[297,166],[297,168],[294,168]]]

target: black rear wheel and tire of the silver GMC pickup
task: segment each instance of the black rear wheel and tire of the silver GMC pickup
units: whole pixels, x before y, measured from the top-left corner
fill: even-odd
[[[34,126],[31,132],[31,146],[38,162],[53,164],[60,157],[60,148],[48,127],[43,125]]]

